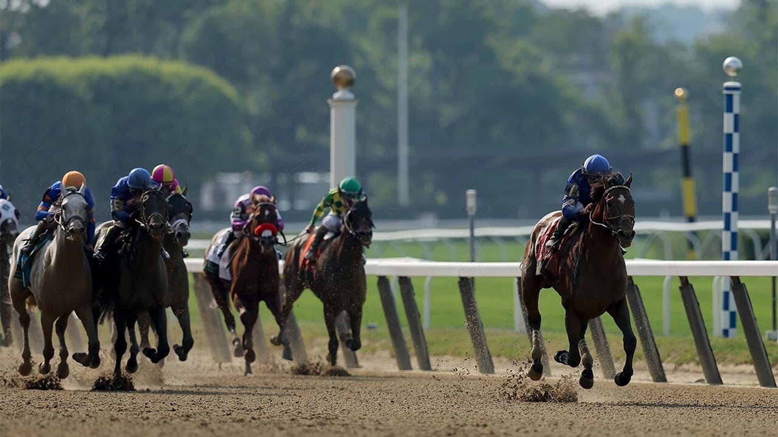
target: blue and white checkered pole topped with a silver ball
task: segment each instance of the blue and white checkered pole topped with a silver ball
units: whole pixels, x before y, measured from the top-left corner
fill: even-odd
[[[731,56],[724,60],[724,72],[734,78],[743,63]],[[724,187],[721,211],[724,229],[721,233],[721,257],[738,259],[738,155],[740,154],[740,82],[724,82]],[[721,335],[734,337],[737,333],[737,309],[730,281],[721,288]]]

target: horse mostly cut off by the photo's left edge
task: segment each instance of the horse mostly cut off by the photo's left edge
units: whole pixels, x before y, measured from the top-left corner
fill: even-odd
[[[8,277],[13,241],[16,236],[19,236],[19,210],[13,206],[9,199],[0,199],[0,323],[2,323],[3,330],[0,346],[9,346],[13,338]]]

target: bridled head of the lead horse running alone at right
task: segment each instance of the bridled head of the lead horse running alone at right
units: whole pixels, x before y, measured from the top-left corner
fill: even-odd
[[[635,238],[635,201],[629,192],[632,180],[632,174],[625,181],[621,173],[615,173],[591,187],[592,201],[597,204],[591,222],[609,229],[622,247],[631,246]]]

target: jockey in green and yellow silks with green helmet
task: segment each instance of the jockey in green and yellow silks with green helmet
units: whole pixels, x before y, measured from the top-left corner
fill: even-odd
[[[362,185],[359,184],[354,177],[345,177],[338,184],[337,188],[331,189],[319,205],[314,210],[314,215],[310,218],[310,223],[305,229],[305,232],[313,233],[316,229],[316,222],[324,216],[324,212],[327,208],[330,209],[329,214],[324,217],[321,222],[321,227],[316,231],[314,242],[311,243],[310,249],[305,254],[305,259],[311,260],[314,257],[314,253],[319,248],[321,240],[327,235],[327,232],[340,232],[343,225],[343,215],[349,210],[349,206],[355,201],[363,199],[365,196],[362,192]]]

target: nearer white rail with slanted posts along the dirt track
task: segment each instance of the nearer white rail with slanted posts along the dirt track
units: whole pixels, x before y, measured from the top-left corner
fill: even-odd
[[[202,281],[202,260],[187,260],[187,269],[195,274],[195,293],[198,295],[203,320],[206,321],[206,330],[219,330],[209,334],[209,338],[226,338],[224,336],[223,324],[220,322],[218,310],[213,308],[212,299],[209,296],[209,289],[204,287]],[[669,284],[667,278],[678,277],[681,281],[679,290],[684,302],[684,308],[689,320],[689,326],[692,330],[692,337],[696,344],[699,361],[703,367],[703,373],[706,381],[711,384],[721,384],[721,377],[718,371],[716,358],[710,348],[710,339],[703,321],[702,313],[699,309],[699,302],[689,277],[714,277],[723,278],[731,281],[734,293],[735,303],[738,306],[738,314],[741,319],[741,326],[748,342],[748,348],[752,356],[755,371],[759,383],[762,386],[775,387],[775,378],[767,357],[766,348],[762,342],[759,327],[757,326],[752,309],[751,300],[748,296],[748,290],[741,278],[746,277],[766,277],[778,274],[778,261],[666,261],[666,260],[627,260],[627,272],[629,274],[629,285],[627,288],[627,299],[629,308],[633,313],[633,318],[638,330],[640,342],[643,346],[643,352],[646,356],[651,376],[656,382],[664,382],[667,379],[664,376],[661,358],[657,345],[654,341],[654,334],[651,330],[643,299],[640,296],[640,289],[633,278],[644,276],[664,277],[665,287],[663,295],[664,311],[666,318],[664,325],[668,326],[669,319]],[[283,263],[279,263],[279,271],[282,271]],[[419,315],[419,309],[415,302],[412,277],[426,278],[425,293],[425,311],[429,309],[429,282],[437,277],[459,278],[459,291],[462,298],[464,313],[466,316],[466,327],[471,336],[471,341],[478,362],[478,369],[481,372],[493,372],[492,358],[489,354],[489,348],[483,330],[481,317],[478,314],[478,306],[475,301],[475,282],[471,278],[515,278],[513,293],[513,316],[517,330],[527,331],[526,319],[520,302],[520,264],[510,262],[500,263],[466,263],[466,262],[437,262],[418,260],[413,258],[394,258],[394,259],[374,259],[368,260],[365,266],[366,274],[377,276],[378,290],[381,304],[384,307],[384,315],[387,319],[387,327],[391,335],[391,341],[394,348],[394,355],[398,362],[398,368],[411,369],[410,355],[405,346],[405,339],[399,323],[398,311],[395,306],[395,291],[399,289],[401,300],[405,308],[408,328],[412,335],[415,356],[419,364],[419,369],[429,370],[429,353],[427,351],[422,316]],[[397,285],[393,287],[389,278],[397,278]],[[714,291],[714,295],[716,295]],[[715,299],[714,299],[715,300]],[[209,303],[210,302],[210,303]],[[715,308],[714,308],[715,310]],[[212,313],[206,315],[205,313]],[[715,311],[714,311],[714,314]],[[425,318],[428,318],[426,314]],[[714,317],[714,320],[716,317]],[[210,320],[210,323],[208,322]],[[210,327],[209,327],[210,325]],[[261,324],[259,329],[261,329]],[[299,335],[299,329],[293,327],[296,334]],[[598,351],[602,369],[606,377],[612,377],[615,373],[613,360],[607,341],[605,341],[605,331],[599,319],[592,320],[591,334],[593,336],[596,350]],[[261,338],[261,337],[260,337]],[[302,344],[302,338],[296,340]],[[218,348],[218,345],[217,345]],[[213,349],[214,358],[223,357],[226,350],[226,340],[224,348],[218,352]],[[544,351],[545,353],[545,351]],[[229,359],[229,351],[226,352],[226,358]],[[304,356],[304,352],[303,355]],[[356,357],[352,359],[352,365],[356,364]],[[347,360],[347,364],[349,361]],[[548,369],[548,366],[544,366]]]

